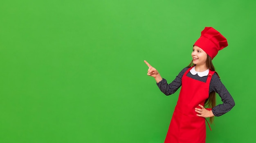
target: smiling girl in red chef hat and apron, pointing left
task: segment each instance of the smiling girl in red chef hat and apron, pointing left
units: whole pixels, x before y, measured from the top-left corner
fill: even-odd
[[[164,143],[205,143],[205,118],[221,116],[235,106],[229,91],[220,81],[212,64],[219,50],[227,47],[227,39],[212,27],[205,27],[193,45],[192,61],[170,84],[148,62],[148,76],[155,78],[165,95],[181,87]],[[216,93],[222,104],[216,106]],[[204,108],[208,105],[209,108]]]

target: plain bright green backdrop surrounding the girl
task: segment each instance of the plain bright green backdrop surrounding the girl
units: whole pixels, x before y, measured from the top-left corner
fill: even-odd
[[[161,93],[144,60],[171,82],[205,26],[228,39],[213,64],[236,102],[207,143],[254,142],[255,6],[1,0],[0,143],[163,143],[179,92]]]

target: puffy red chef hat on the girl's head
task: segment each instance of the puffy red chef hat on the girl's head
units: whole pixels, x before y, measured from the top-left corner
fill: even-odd
[[[205,27],[201,32],[201,37],[194,45],[200,47],[213,59],[219,50],[227,47],[227,39],[212,27]]]

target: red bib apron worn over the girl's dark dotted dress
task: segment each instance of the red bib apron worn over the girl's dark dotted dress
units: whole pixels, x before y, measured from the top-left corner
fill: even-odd
[[[182,76],[182,87],[175,107],[171,124],[164,143],[205,143],[205,118],[198,117],[195,108],[204,106],[209,97],[209,85],[213,71],[209,71],[206,82],[186,76],[189,68]]]

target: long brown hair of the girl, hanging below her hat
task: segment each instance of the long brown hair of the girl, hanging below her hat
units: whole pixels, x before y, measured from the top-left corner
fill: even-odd
[[[192,60],[188,67],[191,67],[193,65],[194,64],[193,64],[193,60]],[[207,58],[206,58],[206,66],[211,71],[215,71],[213,63],[211,61],[211,57],[208,54],[207,54]],[[208,108],[213,108],[214,106],[216,106],[216,92],[212,91],[209,94],[209,98],[205,101],[205,105],[204,106],[208,106]],[[210,117],[211,124],[213,123],[213,119],[214,119],[214,116]]]

